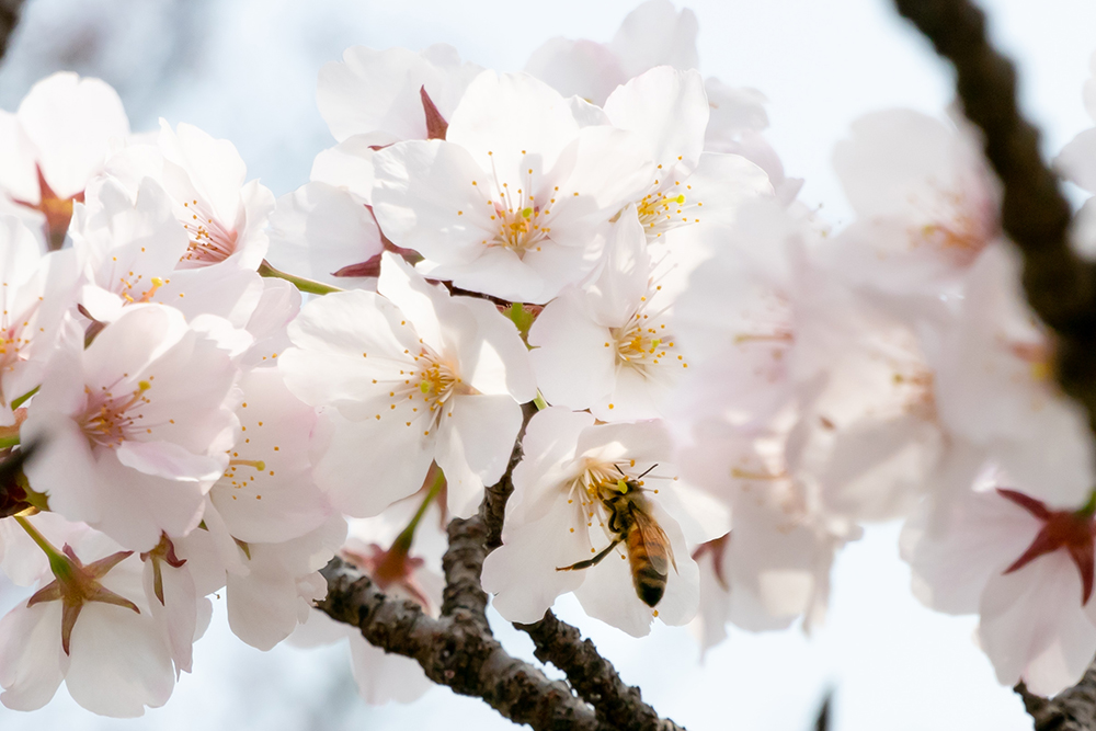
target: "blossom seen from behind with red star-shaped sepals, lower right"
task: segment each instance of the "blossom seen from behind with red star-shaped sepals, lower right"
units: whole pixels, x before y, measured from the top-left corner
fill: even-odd
[[[978,640],[1002,684],[1052,696],[1096,652],[1096,528],[1091,507],[1055,511],[1015,484],[991,472],[943,517],[926,503],[903,529],[902,556],[922,602],[980,615]]]

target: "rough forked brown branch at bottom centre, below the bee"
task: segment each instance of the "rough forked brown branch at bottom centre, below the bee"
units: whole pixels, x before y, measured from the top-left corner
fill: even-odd
[[[328,596],[317,606],[361,629],[370,644],[414,659],[431,681],[482,698],[514,722],[534,729],[580,731],[678,730],[672,721],[660,719],[637,688],[620,681],[590,640],[583,641],[578,629],[559,621],[551,612],[544,620],[522,628],[537,642],[537,658],[560,667],[581,698],[566,683],[550,681],[539,667],[511,656],[491,632],[480,573],[487,555],[502,545],[506,501],[514,492],[512,473],[522,459],[525,425],[535,412],[533,404],[525,406],[525,423],[510,465],[502,479],[487,489],[479,514],[449,522],[449,546],[442,559],[445,590],[437,619],[413,602],[387,597],[367,575],[338,558],[323,570]]]

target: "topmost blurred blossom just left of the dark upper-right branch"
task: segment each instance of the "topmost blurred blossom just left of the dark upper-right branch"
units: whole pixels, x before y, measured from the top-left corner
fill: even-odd
[[[998,184],[961,123],[906,110],[853,123],[833,163],[859,215],[834,241],[852,281],[904,297],[941,289],[1000,238]]]

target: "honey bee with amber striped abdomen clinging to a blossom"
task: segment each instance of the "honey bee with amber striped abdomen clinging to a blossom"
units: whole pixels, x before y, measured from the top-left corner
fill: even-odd
[[[649,607],[654,607],[662,601],[670,567],[673,566],[676,572],[677,561],[674,560],[670,538],[651,517],[644,490],[639,486],[639,481],[655,467],[658,465],[652,465],[633,480],[629,480],[619,467],[616,468],[620,472],[620,479],[602,483],[597,495],[609,514],[608,529],[616,537],[597,556],[571,566],[558,567],[557,571],[581,571],[597,566],[614,548],[624,544],[636,594]]]

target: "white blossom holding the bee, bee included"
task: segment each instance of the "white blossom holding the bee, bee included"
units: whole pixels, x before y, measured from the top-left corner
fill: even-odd
[[[590,616],[637,637],[654,617],[693,619],[699,576],[682,528],[700,529],[676,494],[666,436],[658,422],[595,425],[559,407],[533,418],[503,545],[483,563],[483,589],[503,617],[537,621],[574,592]],[[581,566],[587,559],[596,564]],[[654,586],[637,578],[651,571],[661,575]]]

